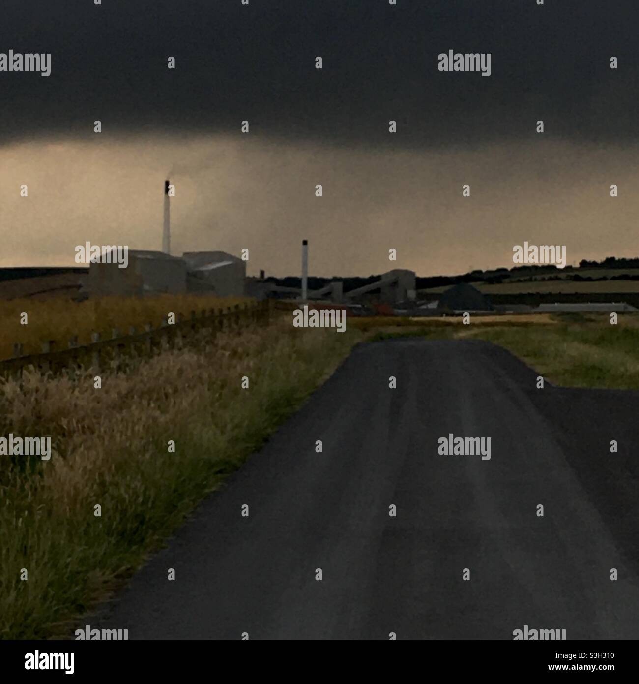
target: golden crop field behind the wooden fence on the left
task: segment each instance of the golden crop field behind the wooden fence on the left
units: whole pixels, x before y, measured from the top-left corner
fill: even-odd
[[[41,351],[40,344],[54,340],[58,348],[66,348],[77,335],[78,343],[91,341],[91,333],[111,337],[113,328],[122,334],[130,326],[143,330],[145,324],[157,327],[168,313],[189,316],[202,309],[227,308],[251,302],[241,297],[208,297],[202,295],[159,295],[153,298],[103,297],[85,302],[70,300],[35,301],[30,299],[0,301],[0,359],[10,358],[14,343],[23,344],[24,354]],[[27,324],[21,323],[27,315]]]

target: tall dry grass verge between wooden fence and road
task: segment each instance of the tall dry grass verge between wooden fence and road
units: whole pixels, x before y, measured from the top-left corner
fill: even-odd
[[[49,435],[57,452],[0,457],[0,637],[70,636],[359,339],[287,319],[161,354],[99,390],[88,376],[0,382],[0,434]]]

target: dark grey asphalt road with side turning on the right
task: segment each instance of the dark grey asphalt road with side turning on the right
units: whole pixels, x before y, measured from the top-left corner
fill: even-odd
[[[524,625],[637,639],[638,408],[639,393],[536,389],[489,343],[361,345],[100,626],[129,639],[513,639]],[[449,433],[490,437],[490,460],[440,455]]]

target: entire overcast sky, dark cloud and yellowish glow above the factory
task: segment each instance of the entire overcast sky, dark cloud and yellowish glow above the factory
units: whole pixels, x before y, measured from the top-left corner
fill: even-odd
[[[524,240],[639,255],[634,0],[1,12],[0,53],[51,53],[51,75],[0,72],[0,266],[71,264],[86,240],[159,249],[169,170],[174,253],[247,247],[249,273],[297,274],[303,238],[324,276],[509,266]],[[441,73],[449,49],[491,53],[491,75]]]

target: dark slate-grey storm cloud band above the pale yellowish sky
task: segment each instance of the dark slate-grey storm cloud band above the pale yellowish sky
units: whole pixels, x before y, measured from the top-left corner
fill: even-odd
[[[636,140],[638,18],[636,0],[3,0],[0,52],[50,52],[51,76],[0,73],[0,140],[245,118],[370,146],[391,118],[394,145],[525,140],[538,118],[550,135]],[[491,76],[440,73],[449,49],[491,53]]]

